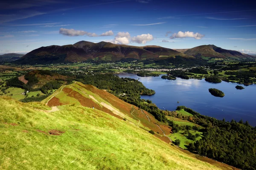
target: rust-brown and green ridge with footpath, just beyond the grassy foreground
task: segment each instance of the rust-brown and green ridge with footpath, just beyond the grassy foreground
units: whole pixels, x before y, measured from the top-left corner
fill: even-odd
[[[168,135],[171,132],[171,128],[167,124],[157,121],[154,116],[145,110],[128,104],[109,92],[97,89],[92,85],[84,85],[80,82],[75,82],[67,86],[62,86],[42,102],[50,107],[66,104],[82,105],[90,108],[94,107],[121,120],[125,118],[132,124],[145,130],[154,130],[154,132],[156,132],[155,136],[167,143],[170,142],[167,137],[163,136],[163,132],[156,125],[160,125],[161,129]],[[150,118],[150,121],[148,121],[146,115]]]

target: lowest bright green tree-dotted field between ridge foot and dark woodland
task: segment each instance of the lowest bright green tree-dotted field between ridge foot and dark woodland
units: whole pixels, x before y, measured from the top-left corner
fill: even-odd
[[[172,141],[175,141],[176,139],[180,139],[180,147],[183,149],[187,149],[185,145],[189,145],[189,143],[194,143],[195,141],[192,141],[190,139],[187,139],[187,134],[183,135],[184,131],[180,130],[178,133],[172,133],[169,135],[169,137],[172,139]],[[195,130],[189,130],[190,133],[192,133],[192,135],[195,135],[196,133],[202,134],[202,132],[198,132]],[[198,138],[196,138],[197,140],[200,140],[201,136],[199,136]]]

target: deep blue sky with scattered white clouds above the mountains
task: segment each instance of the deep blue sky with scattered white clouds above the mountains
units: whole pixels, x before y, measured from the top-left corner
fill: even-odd
[[[256,53],[253,0],[6,0],[0,54],[85,40]]]

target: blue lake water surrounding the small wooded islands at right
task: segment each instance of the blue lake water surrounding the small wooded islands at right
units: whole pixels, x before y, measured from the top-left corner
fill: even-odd
[[[203,80],[177,78],[175,81],[159,77],[139,77],[135,74],[121,73],[120,78],[140,78],[148,89],[156,94],[142,95],[141,98],[151,100],[160,109],[175,110],[177,106],[186,106],[202,115],[226,121],[243,119],[256,126],[256,85],[244,86],[238,90],[235,83],[222,81],[218,84]],[[215,97],[209,88],[219,89],[225,93],[223,98]],[[178,104],[177,101],[180,103]]]

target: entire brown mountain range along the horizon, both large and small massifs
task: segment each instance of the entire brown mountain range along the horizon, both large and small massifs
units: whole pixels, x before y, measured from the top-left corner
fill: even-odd
[[[84,61],[116,62],[116,61],[170,61],[169,58],[185,58],[185,60],[206,58],[250,58],[253,56],[241,52],[226,50],[214,45],[197,46],[192,49],[168,49],[161,46],[128,46],[109,42],[92,43],[79,41],[73,45],[46,46],[35,49],[14,63],[17,64],[51,64],[74,63]],[[173,60],[173,59],[172,59]]]

